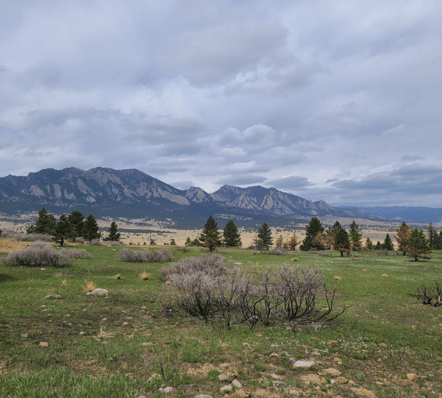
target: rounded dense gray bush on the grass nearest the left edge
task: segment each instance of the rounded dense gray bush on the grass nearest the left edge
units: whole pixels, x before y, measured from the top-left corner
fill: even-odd
[[[54,267],[62,268],[71,266],[74,259],[66,251],[52,248],[49,243],[37,241],[31,243],[26,249],[10,253],[3,263],[16,267]]]

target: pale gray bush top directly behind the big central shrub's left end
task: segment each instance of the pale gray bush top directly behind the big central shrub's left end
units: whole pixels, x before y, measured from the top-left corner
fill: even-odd
[[[218,253],[213,255],[204,254],[201,257],[186,257],[177,263],[161,268],[158,271],[160,281],[169,281],[169,275],[184,275],[195,271],[202,271],[211,277],[218,277],[225,268],[223,266],[224,259]]]

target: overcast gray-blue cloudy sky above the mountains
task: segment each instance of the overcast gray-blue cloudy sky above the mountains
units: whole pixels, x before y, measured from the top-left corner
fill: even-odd
[[[439,0],[0,0],[0,177],[442,207]]]

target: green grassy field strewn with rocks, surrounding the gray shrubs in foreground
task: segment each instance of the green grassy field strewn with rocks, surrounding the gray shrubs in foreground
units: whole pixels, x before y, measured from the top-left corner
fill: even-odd
[[[6,248],[0,239],[0,256]],[[76,248],[91,258],[68,268],[0,263],[0,397],[164,397],[159,388],[168,386],[168,397],[222,397],[220,388],[235,378],[242,388],[231,397],[354,397],[352,388],[367,396],[442,397],[442,307],[407,295],[441,281],[442,252],[414,262],[395,253],[340,258],[332,251],[220,249],[227,266],[259,270],[295,264],[296,257],[296,264],[318,265],[329,286],[338,284],[336,308],[349,306],[345,313],[294,334],[287,325],[227,330],[184,313],[166,317],[157,279],[165,263],[126,263],[116,259],[118,247]],[[175,261],[200,255],[199,248],[174,251]],[[151,278],[141,280],[142,272]],[[109,296],[87,296],[88,281]],[[293,359],[316,366],[298,370]],[[345,379],[326,375],[329,368]],[[218,380],[221,369],[229,381]]]

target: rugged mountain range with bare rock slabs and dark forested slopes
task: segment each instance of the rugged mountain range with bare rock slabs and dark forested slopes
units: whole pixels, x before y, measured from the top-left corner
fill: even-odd
[[[111,168],[44,169],[26,177],[0,177],[0,211],[14,214],[45,207],[56,214],[93,209],[94,214],[191,216],[228,214],[240,217],[302,219],[327,216],[385,220],[358,208],[334,208],[275,188],[224,185],[211,194],[201,188],[179,190],[140,170]]]

